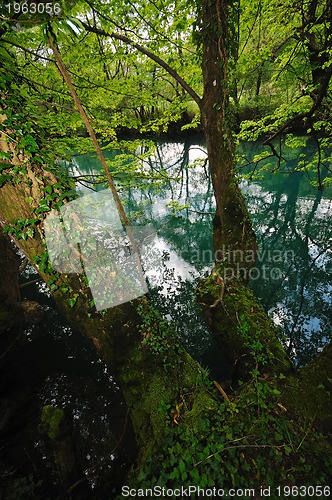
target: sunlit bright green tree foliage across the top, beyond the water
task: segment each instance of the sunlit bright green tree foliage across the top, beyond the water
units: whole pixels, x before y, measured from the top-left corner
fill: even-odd
[[[52,17],[13,15],[4,5],[0,11],[2,71],[14,75],[12,90],[26,99],[31,120],[47,130],[51,151],[59,157],[84,153],[91,143],[54,64],[47,23],[103,147],[118,148],[126,132],[199,128],[200,2],[59,5]],[[282,163],[280,136],[308,133],[317,154],[300,166],[317,170],[322,187],[319,171],[328,167],[331,134],[331,2],[256,0],[233,2],[233,8],[228,80],[239,137],[263,137],[266,155]],[[291,143],[297,144],[293,136]]]

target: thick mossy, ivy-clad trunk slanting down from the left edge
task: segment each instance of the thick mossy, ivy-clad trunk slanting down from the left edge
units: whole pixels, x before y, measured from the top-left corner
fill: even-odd
[[[117,377],[143,460],[163,438],[166,415],[159,411],[160,401],[176,405],[185,386],[191,399],[188,407],[192,406],[195,395],[205,392],[203,385],[197,384],[201,368],[182,350],[177,359],[174,356],[174,367],[168,363],[165,370],[160,357],[142,347],[137,303],[127,302],[100,313],[91,307],[85,276],[54,272],[46,252],[44,217],[69,201],[66,193],[70,192],[72,182],[56,165],[46,161],[46,153],[44,156],[39,153],[42,145],[34,142],[38,140],[38,132],[33,129],[33,137],[31,124],[26,126],[29,117],[22,111],[25,101],[17,95],[10,75],[3,85],[6,90],[0,95],[0,152],[5,159],[0,176],[0,230],[7,227],[11,239],[51,286],[52,295],[68,322],[92,342]],[[42,135],[43,131],[39,132]],[[29,134],[32,150],[19,146],[24,133]],[[158,338],[165,349],[166,332],[158,332]]]

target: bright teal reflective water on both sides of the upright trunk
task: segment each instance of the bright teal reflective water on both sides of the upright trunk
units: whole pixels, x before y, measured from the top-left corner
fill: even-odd
[[[138,149],[136,155],[142,152]],[[259,152],[259,145],[245,150],[249,159]],[[289,352],[298,364],[304,364],[331,342],[328,218],[332,205],[328,190],[318,191],[310,185],[305,172],[294,172],[300,153],[296,151],[292,156],[288,152],[284,173],[272,174],[269,170],[252,181],[243,180],[242,190],[260,248],[251,286],[280,325]],[[80,157],[75,161],[76,173],[84,175],[85,164]],[[91,157],[88,165],[90,173],[98,171],[98,163]],[[150,287],[163,313],[181,331],[189,350],[207,359],[213,341],[194,295],[197,280],[213,264],[215,205],[204,144],[197,138],[181,143],[156,142],[155,152],[142,160],[141,169],[158,174],[157,182],[138,176],[135,183],[122,179],[119,189],[132,222],[149,225],[155,232],[153,242],[143,253]],[[325,175],[327,172],[322,172]],[[276,252],[280,259],[271,257]],[[278,272],[264,273],[264,266]]]

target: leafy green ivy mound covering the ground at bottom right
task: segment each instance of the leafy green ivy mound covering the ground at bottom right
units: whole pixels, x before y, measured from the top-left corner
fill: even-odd
[[[169,426],[164,442],[129,481],[133,487],[252,488],[328,484],[331,446],[304,418],[281,411],[279,391],[255,377],[231,404],[202,394],[190,419]],[[196,413],[196,407],[198,412]],[[187,417],[191,412],[187,412]],[[198,416],[199,415],[199,416]]]

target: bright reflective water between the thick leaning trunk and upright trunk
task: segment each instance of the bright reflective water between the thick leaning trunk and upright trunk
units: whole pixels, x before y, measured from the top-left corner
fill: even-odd
[[[181,276],[204,266],[201,256],[210,260],[212,253],[212,221],[209,212],[214,211],[211,184],[203,168],[191,168],[189,161],[190,141],[183,144],[159,144],[154,158],[149,160],[152,172],[165,172],[168,178],[158,187],[145,183],[143,189],[131,190],[125,194],[130,212],[140,213],[138,223],[151,225],[156,236],[167,246],[168,252],[176,255],[181,269],[172,269],[165,255],[153,249],[144,254],[145,270],[159,276],[159,287],[151,290],[151,300],[162,314],[176,325],[186,347],[196,358],[209,349],[212,339],[209,329],[195,298],[194,276]],[[167,207],[170,201],[186,206],[181,210]],[[197,258],[200,258],[197,261]],[[192,262],[193,259],[195,262]],[[193,264],[193,265],[192,265]],[[180,274],[179,274],[180,273]]]

